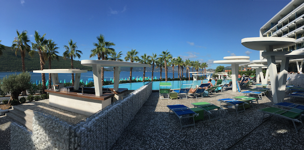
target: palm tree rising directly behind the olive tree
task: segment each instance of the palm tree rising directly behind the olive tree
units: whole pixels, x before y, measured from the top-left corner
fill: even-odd
[[[15,37],[12,47],[15,49],[15,54],[20,51],[21,54],[21,63],[22,63],[22,72],[25,72],[25,52],[30,52],[30,46],[28,45],[29,37],[27,36],[27,31],[24,30],[21,33],[17,30],[17,37]]]

